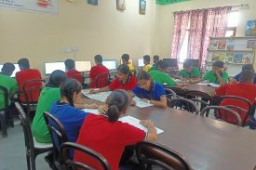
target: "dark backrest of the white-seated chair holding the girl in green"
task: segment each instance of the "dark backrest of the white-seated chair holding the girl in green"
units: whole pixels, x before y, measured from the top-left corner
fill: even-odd
[[[34,139],[31,131],[30,121],[28,120],[26,113],[20,106],[20,103],[15,102],[16,109],[19,111],[20,122],[24,132],[25,146],[27,150],[34,148]]]

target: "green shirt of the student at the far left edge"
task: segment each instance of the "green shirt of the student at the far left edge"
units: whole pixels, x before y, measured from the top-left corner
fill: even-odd
[[[17,82],[14,78],[0,73],[0,85],[7,88],[8,91],[8,105],[10,104],[10,96],[14,95],[17,90]],[[5,109],[5,97],[2,90],[0,90],[0,110]]]

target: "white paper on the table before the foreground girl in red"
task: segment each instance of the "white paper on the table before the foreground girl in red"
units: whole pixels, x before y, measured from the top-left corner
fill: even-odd
[[[145,126],[140,124],[141,121],[139,119],[136,119],[136,118],[134,118],[132,116],[122,117],[122,118],[119,119],[119,121],[121,121],[122,123],[128,123],[130,125],[133,125],[133,126],[139,128],[139,129],[141,129],[141,130],[143,130],[145,132],[148,131],[148,129]],[[157,135],[164,133],[164,130],[162,130],[162,129],[159,129],[157,127],[155,127],[155,129],[156,129],[156,134]]]

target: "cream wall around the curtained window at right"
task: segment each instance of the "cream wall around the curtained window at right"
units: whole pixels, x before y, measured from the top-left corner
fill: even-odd
[[[237,19],[238,26],[236,30],[236,36],[245,36],[247,20],[256,20],[255,0],[193,0],[168,6],[160,6],[160,9],[158,10],[158,19],[160,21],[156,30],[156,32],[158,33],[156,39],[158,39],[158,42],[160,42],[159,55],[161,55],[162,57],[170,57],[173,36],[174,11],[201,9],[209,7],[237,6],[241,4],[249,4],[249,8],[238,8],[240,12],[240,17],[239,19]]]

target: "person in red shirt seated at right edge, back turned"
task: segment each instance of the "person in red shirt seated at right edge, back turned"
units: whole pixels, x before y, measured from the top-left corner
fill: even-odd
[[[253,85],[253,71],[251,70],[245,70],[240,73],[240,81],[239,83],[233,83],[233,84],[226,84],[222,85],[215,89],[215,96],[221,97],[221,96],[236,96],[241,98],[246,98],[250,101],[251,105],[255,103],[256,98],[256,85]],[[246,111],[249,110],[247,105],[245,105],[243,102],[239,102],[237,100],[233,99],[224,99],[221,103],[222,106],[237,106],[239,108],[242,108]],[[235,110],[236,111],[236,110]],[[246,113],[240,112],[240,117],[242,120],[244,120]],[[232,115],[226,116],[226,121],[231,124],[236,124],[236,118]],[[247,123],[249,122],[249,119],[247,120]]]

